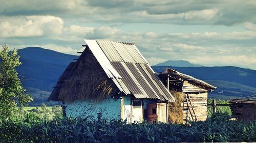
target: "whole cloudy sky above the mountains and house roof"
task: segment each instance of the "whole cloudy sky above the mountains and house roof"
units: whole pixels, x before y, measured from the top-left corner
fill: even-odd
[[[0,0],[0,45],[77,54],[83,39],[135,43],[150,65],[256,70],[256,1]]]

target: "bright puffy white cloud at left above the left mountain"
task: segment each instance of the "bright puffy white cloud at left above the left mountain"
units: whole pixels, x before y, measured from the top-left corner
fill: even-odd
[[[2,17],[1,37],[33,37],[59,35],[63,30],[63,20],[55,16]]]

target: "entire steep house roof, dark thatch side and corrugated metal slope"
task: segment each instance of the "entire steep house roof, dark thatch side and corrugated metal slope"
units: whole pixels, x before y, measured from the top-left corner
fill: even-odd
[[[135,98],[174,101],[134,44],[85,41],[87,48],[60,76],[48,100],[102,98],[121,92]]]

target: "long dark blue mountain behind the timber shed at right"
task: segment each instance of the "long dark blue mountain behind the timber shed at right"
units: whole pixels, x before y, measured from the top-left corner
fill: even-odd
[[[155,72],[165,70],[166,66],[152,67]],[[181,73],[202,79],[217,89],[209,95],[249,96],[256,94],[256,70],[239,67],[170,67]]]

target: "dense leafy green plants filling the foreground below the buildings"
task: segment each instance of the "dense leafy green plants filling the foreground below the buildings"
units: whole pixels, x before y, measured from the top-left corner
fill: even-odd
[[[216,113],[206,122],[178,124],[126,124],[80,118],[42,120],[29,112],[24,117],[0,119],[2,142],[223,142],[255,141],[256,123],[229,121]]]

